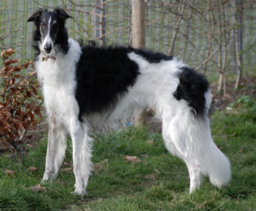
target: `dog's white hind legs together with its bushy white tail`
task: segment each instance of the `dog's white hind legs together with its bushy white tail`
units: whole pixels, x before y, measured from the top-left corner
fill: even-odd
[[[229,160],[211,138],[207,115],[195,116],[188,107],[180,111],[170,117],[163,115],[163,138],[169,152],[188,166],[190,193],[199,187],[202,175],[209,175],[217,187],[227,184]]]

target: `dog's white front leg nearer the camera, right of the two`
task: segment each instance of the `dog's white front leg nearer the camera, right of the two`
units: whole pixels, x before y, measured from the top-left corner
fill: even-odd
[[[76,177],[74,194],[86,194],[86,186],[92,170],[91,139],[88,136],[88,127],[78,120],[71,122],[71,139],[73,144],[73,167]]]

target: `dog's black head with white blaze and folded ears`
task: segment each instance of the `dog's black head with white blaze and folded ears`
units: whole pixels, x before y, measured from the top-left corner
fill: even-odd
[[[53,12],[39,9],[31,15],[27,21],[33,21],[36,25],[34,41],[40,52],[48,56],[54,55],[55,45],[61,45],[61,50],[67,52],[67,30],[65,20],[71,16],[61,8],[55,8]]]

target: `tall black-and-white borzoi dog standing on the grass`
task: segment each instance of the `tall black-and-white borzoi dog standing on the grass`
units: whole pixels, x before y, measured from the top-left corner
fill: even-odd
[[[182,61],[131,47],[81,47],[68,38],[61,8],[38,10],[33,46],[38,80],[48,116],[43,181],[52,181],[65,155],[66,134],[73,144],[74,193],[85,194],[92,171],[89,130],[127,122],[143,108],[162,122],[167,150],[188,166],[190,192],[203,175],[220,187],[230,179],[230,163],[211,137],[209,84]]]

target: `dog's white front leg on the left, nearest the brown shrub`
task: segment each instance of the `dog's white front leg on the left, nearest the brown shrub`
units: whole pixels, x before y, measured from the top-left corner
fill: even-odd
[[[64,125],[57,122],[53,116],[49,116],[45,173],[42,182],[52,182],[52,179],[57,176],[58,169],[65,156],[66,147],[67,140]]]

